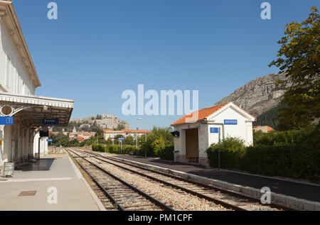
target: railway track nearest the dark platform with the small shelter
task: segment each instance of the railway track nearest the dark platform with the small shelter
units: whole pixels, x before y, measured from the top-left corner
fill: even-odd
[[[161,183],[162,185],[166,185],[172,187],[176,190],[181,190],[183,192],[187,192],[188,194],[192,194],[196,197],[206,199],[210,202],[214,202],[215,204],[219,204],[227,209],[233,210],[292,210],[287,207],[282,207],[277,204],[271,205],[262,205],[257,199],[243,196],[242,194],[238,194],[235,192],[230,192],[226,190],[221,190],[216,187],[210,185],[203,185],[198,182],[194,182],[191,180],[183,179],[182,177],[176,177],[174,175],[169,175],[164,172],[158,172],[154,170],[149,170],[146,168],[142,168],[137,165],[132,165],[129,163],[123,163],[115,158],[110,158],[107,156],[100,155],[98,153],[92,153],[84,150],[75,150],[78,155],[90,156],[90,158],[94,158],[100,163],[107,163],[114,167],[120,168],[121,170],[126,170],[127,172],[131,172],[133,174],[137,174],[142,177],[146,177],[149,180],[154,180],[154,182]]]

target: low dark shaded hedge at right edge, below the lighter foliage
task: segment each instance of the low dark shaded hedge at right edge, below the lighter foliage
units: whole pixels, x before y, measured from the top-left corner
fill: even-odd
[[[260,175],[320,180],[320,150],[292,144],[250,146],[240,169]]]

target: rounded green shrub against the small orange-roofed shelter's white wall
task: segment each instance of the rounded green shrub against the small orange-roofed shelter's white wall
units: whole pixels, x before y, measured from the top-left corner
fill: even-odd
[[[245,155],[245,144],[240,138],[225,138],[218,143],[212,144],[208,150],[210,166],[218,168],[218,152],[220,149],[220,165],[225,169],[240,169],[240,161]]]

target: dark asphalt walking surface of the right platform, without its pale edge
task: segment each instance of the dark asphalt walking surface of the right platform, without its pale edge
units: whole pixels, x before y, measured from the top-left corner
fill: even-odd
[[[215,180],[229,182],[235,185],[245,187],[254,187],[261,189],[262,187],[270,187],[272,192],[285,194],[299,199],[307,199],[309,201],[320,202],[320,185],[304,184],[301,182],[292,182],[287,180],[278,180],[272,177],[260,177],[255,175],[240,174],[238,172],[229,172],[225,170],[217,170],[205,168],[200,165],[190,165],[185,163],[176,163],[166,160],[154,158],[142,158],[134,155],[113,155],[114,157],[134,160],[138,163],[155,165],[161,168],[177,170],[181,172],[191,173],[201,177],[208,177]]]

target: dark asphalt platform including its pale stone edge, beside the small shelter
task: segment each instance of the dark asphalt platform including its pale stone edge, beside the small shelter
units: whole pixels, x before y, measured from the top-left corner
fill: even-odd
[[[282,179],[281,177],[265,177],[230,170],[218,170],[157,158],[142,158],[134,155],[112,155],[112,157],[142,163],[141,165],[162,172],[169,170],[174,175],[196,179],[198,182],[207,182],[207,184],[242,192],[251,197],[260,197],[262,187],[269,187],[273,196],[277,196],[277,201],[283,204],[302,204],[299,208],[320,210],[320,185],[317,184]]]

